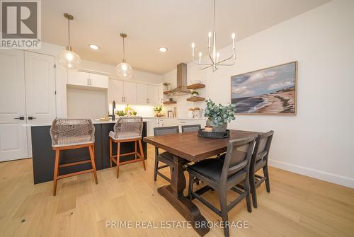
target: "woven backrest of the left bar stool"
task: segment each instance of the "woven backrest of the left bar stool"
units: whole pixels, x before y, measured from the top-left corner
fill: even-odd
[[[50,127],[52,146],[72,146],[95,141],[95,127],[89,119],[56,118]]]

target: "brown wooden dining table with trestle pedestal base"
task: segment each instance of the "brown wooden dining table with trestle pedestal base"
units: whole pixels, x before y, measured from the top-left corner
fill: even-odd
[[[183,195],[186,187],[183,165],[188,162],[202,161],[206,158],[222,154],[227,151],[230,139],[242,139],[261,132],[230,130],[230,137],[224,139],[210,139],[198,137],[198,132],[182,132],[155,137],[144,137],[148,144],[168,151],[173,155],[171,182],[169,185],[158,188],[158,192],[193,226],[200,235],[205,236],[210,231],[207,220],[198,207]],[[207,188],[204,190],[206,191]],[[205,221],[205,222],[203,222]],[[204,224],[203,224],[204,223]]]

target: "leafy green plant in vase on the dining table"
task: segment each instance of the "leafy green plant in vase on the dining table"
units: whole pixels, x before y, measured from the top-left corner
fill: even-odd
[[[207,117],[207,126],[212,126],[213,132],[225,132],[227,123],[235,120],[236,105],[216,105],[212,100],[207,100],[204,117]]]

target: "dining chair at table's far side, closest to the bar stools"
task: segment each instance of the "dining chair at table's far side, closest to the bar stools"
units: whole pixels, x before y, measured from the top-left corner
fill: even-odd
[[[171,127],[154,127],[154,136],[162,136],[166,134],[175,134],[179,133],[178,126]],[[159,166],[159,162],[164,163],[163,166]],[[173,156],[171,153],[164,151],[161,154],[159,153],[159,149],[155,146],[155,165],[154,165],[154,181],[156,181],[157,175],[164,178],[166,181],[171,182],[171,179],[166,175],[161,173],[159,170],[161,168],[172,167]]]

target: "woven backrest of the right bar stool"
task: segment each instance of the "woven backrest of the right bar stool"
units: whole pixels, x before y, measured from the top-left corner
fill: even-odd
[[[142,117],[119,117],[113,127],[115,137],[142,137]]]

